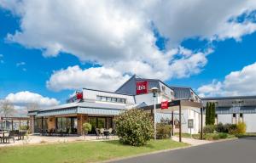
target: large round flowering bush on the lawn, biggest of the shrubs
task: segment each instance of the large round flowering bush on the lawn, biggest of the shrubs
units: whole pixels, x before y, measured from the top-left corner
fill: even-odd
[[[141,146],[146,144],[154,135],[152,117],[143,110],[125,110],[116,116],[114,121],[121,143]]]

